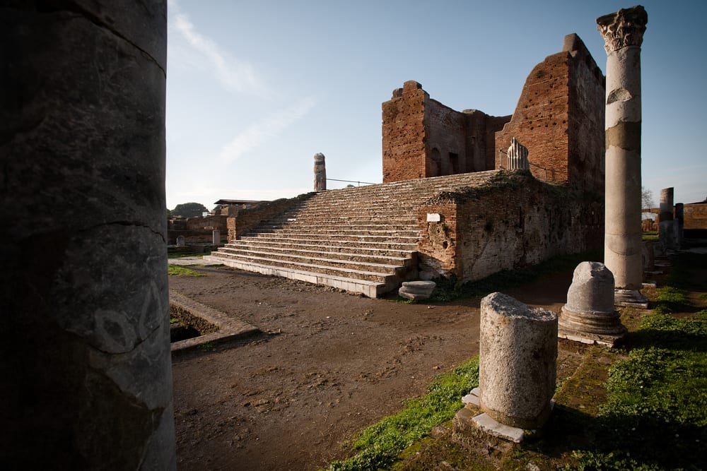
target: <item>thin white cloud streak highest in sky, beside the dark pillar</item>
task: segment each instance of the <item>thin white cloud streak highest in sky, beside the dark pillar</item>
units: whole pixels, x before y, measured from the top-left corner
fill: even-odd
[[[239,61],[224,51],[216,42],[202,35],[189,16],[183,13],[175,0],[169,2],[169,25],[184,38],[189,46],[199,52],[214,69],[216,79],[226,90],[237,93],[255,93],[264,95],[265,87],[255,68],[247,62]]]

